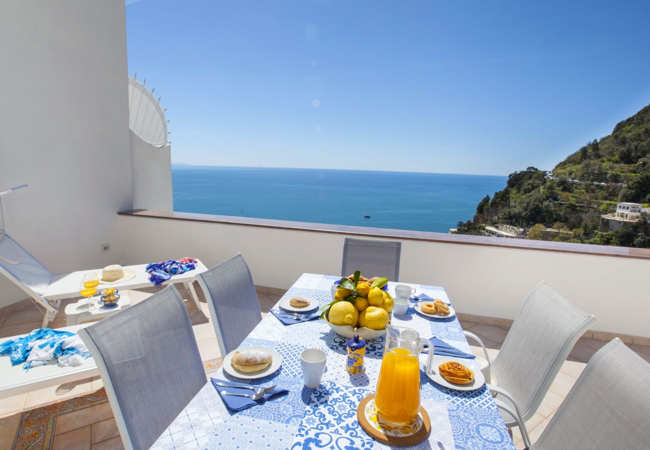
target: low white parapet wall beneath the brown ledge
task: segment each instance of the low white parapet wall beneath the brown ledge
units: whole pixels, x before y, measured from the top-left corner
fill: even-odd
[[[285,289],[303,272],[341,271],[339,234],[132,216],[120,216],[120,228],[129,264],[190,256],[213,267],[242,252],[255,284]],[[400,281],[445,287],[460,312],[514,319],[530,289],[544,280],[595,315],[596,330],[650,336],[647,293],[622,293],[619,286],[620,280],[647,279],[649,268],[644,259],[405,240]]]

